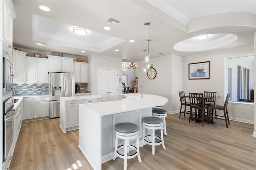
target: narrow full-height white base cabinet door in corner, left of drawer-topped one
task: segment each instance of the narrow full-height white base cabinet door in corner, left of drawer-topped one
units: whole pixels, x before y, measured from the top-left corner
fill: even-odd
[[[23,99],[23,120],[34,118],[34,97]]]

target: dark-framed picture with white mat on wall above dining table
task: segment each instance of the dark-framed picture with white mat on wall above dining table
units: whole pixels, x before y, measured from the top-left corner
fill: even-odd
[[[210,61],[188,64],[188,79],[210,79]]]

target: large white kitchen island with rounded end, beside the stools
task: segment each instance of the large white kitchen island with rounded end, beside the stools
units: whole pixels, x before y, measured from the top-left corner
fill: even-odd
[[[168,99],[140,93],[122,94],[119,101],[80,104],[79,148],[95,170],[114,156],[114,127],[118,123],[135,123],[140,128],[142,142],[142,118],[152,116],[152,107],[165,105]],[[131,141],[130,144],[135,143]]]

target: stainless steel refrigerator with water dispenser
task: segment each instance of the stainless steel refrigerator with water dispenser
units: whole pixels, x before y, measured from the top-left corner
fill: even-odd
[[[49,118],[60,117],[60,97],[74,96],[75,79],[73,73],[48,74],[50,80]]]

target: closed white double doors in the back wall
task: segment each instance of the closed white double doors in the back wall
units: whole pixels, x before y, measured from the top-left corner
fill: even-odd
[[[117,70],[99,69],[99,95],[104,101],[114,101],[118,98]]]

